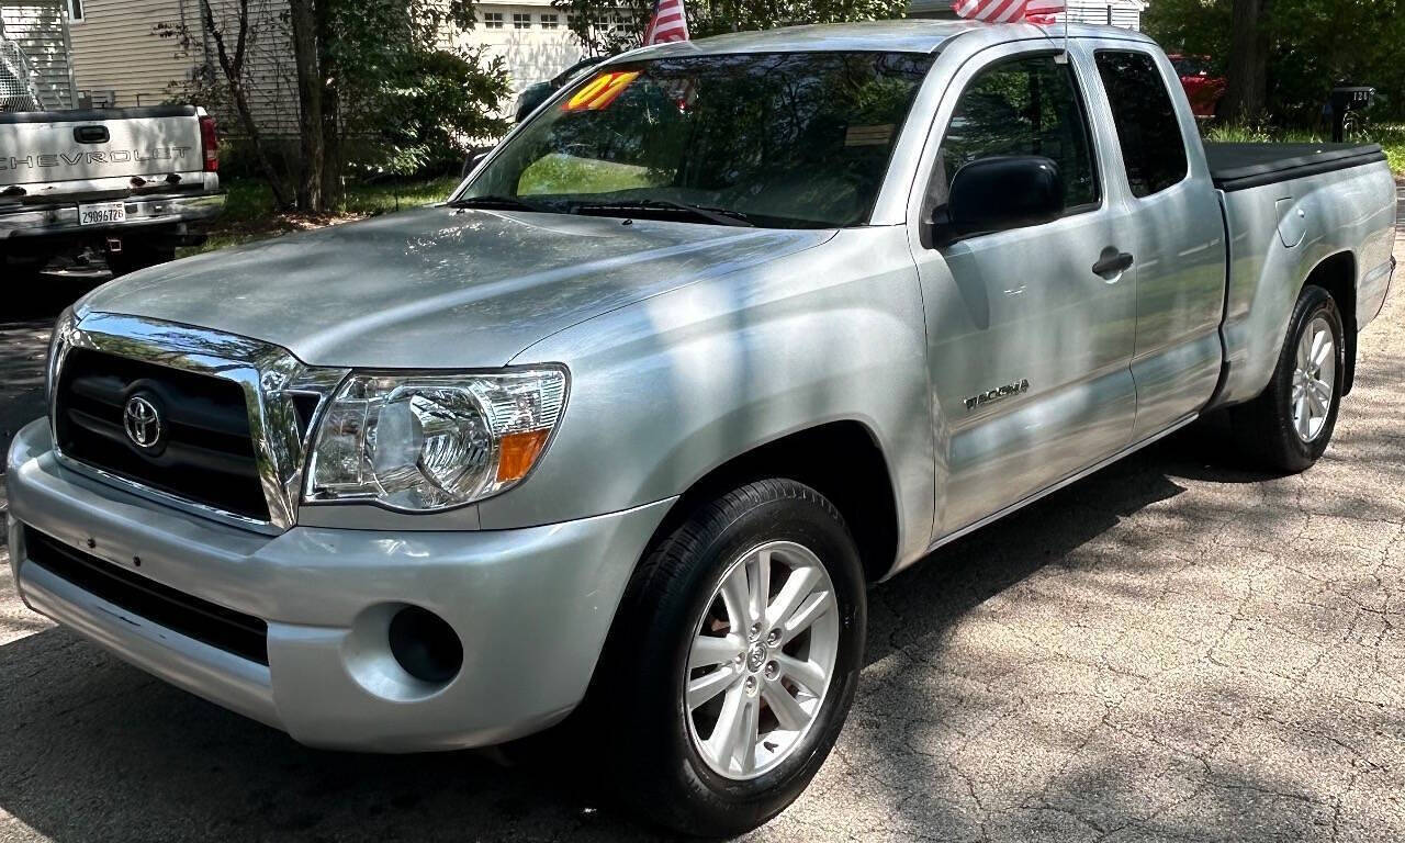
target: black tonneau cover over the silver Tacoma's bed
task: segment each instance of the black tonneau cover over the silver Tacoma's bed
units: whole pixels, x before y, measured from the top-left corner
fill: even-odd
[[[1205,143],[1215,187],[1224,191],[1277,184],[1384,162],[1377,143]]]

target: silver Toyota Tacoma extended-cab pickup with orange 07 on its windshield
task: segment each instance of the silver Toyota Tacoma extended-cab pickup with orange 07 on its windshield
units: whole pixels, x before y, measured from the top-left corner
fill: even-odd
[[[301,742],[563,724],[656,821],[749,829],[839,735],[868,583],[1211,410],[1311,466],[1394,221],[1374,146],[1207,149],[1134,32],[648,48],[443,205],[65,313],[15,582]]]

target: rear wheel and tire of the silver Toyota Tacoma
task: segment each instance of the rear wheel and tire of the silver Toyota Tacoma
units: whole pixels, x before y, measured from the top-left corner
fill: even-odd
[[[1312,337],[1318,334],[1329,337],[1332,348],[1321,353],[1321,360],[1308,361],[1305,375],[1300,374],[1300,348],[1315,348]],[[1345,375],[1346,341],[1336,301],[1321,287],[1304,287],[1288,319],[1288,332],[1269,386],[1255,400],[1231,410],[1241,452],[1270,471],[1301,472],[1311,468],[1332,441]],[[1305,378],[1315,384],[1308,384]],[[1332,389],[1325,400],[1322,385]]]

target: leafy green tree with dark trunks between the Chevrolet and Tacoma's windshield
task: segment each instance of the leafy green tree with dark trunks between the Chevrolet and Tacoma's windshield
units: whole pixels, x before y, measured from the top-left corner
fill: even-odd
[[[502,133],[509,94],[502,59],[451,44],[475,24],[472,0],[288,0],[285,14],[253,14],[250,0],[200,0],[202,30],[160,24],[209,69],[173,93],[237,117],[280,207],[320,214],[340,201],[348,170],[406,173],[462,159],[465,145]],[[287,87],[296,90],[298,155],[282,173],[250,104],[249,56],[291,45]],[[267,74],[267,63],[260,67]],[[289,190],[291,185],[291,190]],[[289,202],[289,197],[292,202]]]

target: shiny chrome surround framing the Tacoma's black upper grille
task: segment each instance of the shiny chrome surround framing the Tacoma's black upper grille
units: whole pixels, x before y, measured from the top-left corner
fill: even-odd
[[[58,384],[72,348],[89,348],[239,384],[249,410],[249,433],[253,438],[259,482],[268,504],[268,520],[261,521],[197,503],[69,458],[59,450],[55,436],[53,451],[65,466],[152,500],[237,527],[282,532],[296,523],[302,472],[316,416],[320,416],[323,405],[350,370],[312,368],[278,346],[204,327],[117,313],[84,313],[77,325],[63,332],[55,343],[56,362],[49,395],[49,427],[55,433]],[[319,398],[318,412],[308,426],[306,436],[298,429],[298,413],[292,403],[295,393]]]

